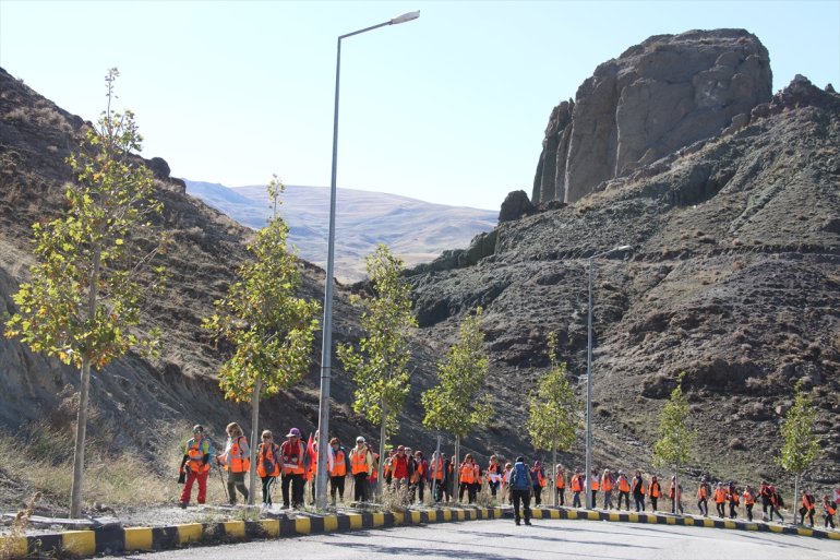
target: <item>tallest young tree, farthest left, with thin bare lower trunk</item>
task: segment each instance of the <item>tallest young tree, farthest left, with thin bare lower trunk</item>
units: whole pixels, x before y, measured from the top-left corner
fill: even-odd
[[[131,111],[111,108],[116,68],[105,78],[108,104],[68,158],[76,181],[65,210],[33,225],[36,263],[13,297],[17,312],[5,336],[57,357],[81,373],[70,516],[82,512],[91,369],[100,371],[129,350],[154,354],[157,332],[135,327],[145,297],[163,289],[165,269],[152,269],[165,237],[149,218],[159,214],[149,169],[136,156],[142,138]],[[152,269],[147,271],[146,269]],[[139,278],[141,273],[146,282]]]

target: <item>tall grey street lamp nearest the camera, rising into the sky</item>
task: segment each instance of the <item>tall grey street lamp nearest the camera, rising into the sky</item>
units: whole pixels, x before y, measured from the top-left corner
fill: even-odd
[[[420,12],[408,12],[387,22],[372,25],[338,37],[337,57],[335,63],[335,109],[333,112],[333,172],[329,182],[329,235],[326,251],[326,278],[324,279],[324,323],[321,344],[321,400],[319,405],[319,445],[315,502],[321,510],[326,509],[326,467],[329,449],[329,380],[333,369],[333,269],[335,267],[335,201],[336,201],[336,164],[338,156],[338,83],[341,73],[341,39],[352,37],[386,25],[410,22],[420,17]]]

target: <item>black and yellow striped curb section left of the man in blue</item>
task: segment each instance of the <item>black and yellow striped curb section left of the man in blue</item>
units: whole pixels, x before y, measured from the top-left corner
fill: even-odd
[[[91,557],[104,553],[168,550],[199,543],[283,538],[314,533],[358,531],[447,521],[494,520],[502,508],[444,509],[391,513],[348,513],[261,521],[191,523],[165,527],[103,527],[15,538],[12,558]],[[0,548],[4,539],[0,537]]]

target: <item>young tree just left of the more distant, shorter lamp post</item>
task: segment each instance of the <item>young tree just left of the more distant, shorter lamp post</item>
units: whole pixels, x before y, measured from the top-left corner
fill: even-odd
[[[530,398],[530,417],[526,428],[533,446],[551,451],[551,469],[556,468],[557,452],[568,451],[575,442],[575,432],[580,427],[580,404],[568,382],[566,362],[557,361],[557,334],[550,332],[547,341],[551,364]],[[587,476],[589,476],[587,474]],[[557,503],[554,492],[554,505]]]

